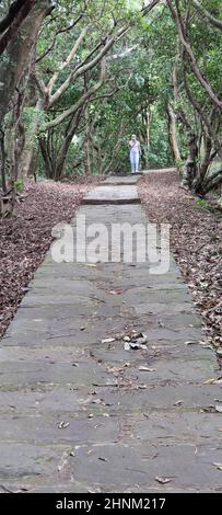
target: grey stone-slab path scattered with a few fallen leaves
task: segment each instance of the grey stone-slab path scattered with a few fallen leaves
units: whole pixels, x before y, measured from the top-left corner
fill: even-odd
[[[122,178],[112,180],[113,194],[109,178],[86,197],[100,204],[79,209],[86,224],[145,224],[132,185],[117,193]],[[101,204],[121,194],[127,204]],[[0,491],[222,491],[222,396],[206,384],[220,376],[214,354],[185,344],[201,339],[200,320],[174,260],[149,272],[47,254],[1,341]],[[131,330],[147,350],[102,343]]]

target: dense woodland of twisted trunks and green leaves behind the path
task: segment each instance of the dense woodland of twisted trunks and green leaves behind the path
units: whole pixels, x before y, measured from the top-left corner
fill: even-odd
[[[205,195],[222,182],[221,0],[0,2],[3,194],[27,176],[176,164]]]

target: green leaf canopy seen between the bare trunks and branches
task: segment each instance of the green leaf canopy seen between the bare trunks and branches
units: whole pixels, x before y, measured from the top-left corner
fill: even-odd
[[[7,4],[3,3],[5,9]],[[209,12],[220,18],[220,0],[206,0],[202,3]],[[109,170],[129,171],[128,141],[132,133],[137,134],[141,142],[143,168],[175,164],[168,129],[168,105],[173,106],[175,113],[177,144],[180,151],[180,160],[176,164],[182,169],[187,159],[189,126],[197,135],[200,147],[196,159],[197,169],[200,170],[205,161],[208,134],[200,111],[198,112],[191,104],[186,91],[185,61],[190,91],[221,141],[219,112],[212,110],[212,102],[196,78],[189,59],[186,59],[182,53],[175,22],[166,2],[160,2],[145,16],[141,12],[144,4],[142,0],[55,1],[55,10],[51,16],[46,18],[37,41],[38,88],[36,82],[32,84],[34,95],[43,98],[43,106],[39,110],[34,106],[35,100],[33,101],[30,92],[22,118],[26,142],[36,150],[38,139],[33,127],[35,125],[38,127],[38,135],[46,144],[48,161],[52,163],[52,168],[56,168],[58,157],[61,157],[73,119],[68,116],[55,127],[52,122],[70,106],[75,105],[86,90],[98,83],[101,62],[75,80],[72,80],[72,72],[94,59],[106,42],[113,37],[116,37],[115,44],[105,56],[106,77],[103,87],[95,95],[91,95],[81,112],[75,128],[78,144],[70,138],[69,146],[65,150],[66,174],[84,173],[89,157],[92,173]],[[179,4],[182,19],[187,21],[187,37],[197,65],[212,90],[221,98],[222,33],[207,23],[192,2],[173,2],[175,8],[176,4]],[[122,26],[128,30],[124,37],[119,38],[117,34]],[[87,31],[69,60],[68,56],[85,27]],[[174,68],[177,92],[172,80]],[[47,95],[44,98],[43,84],[47,90],[55,72],[58,72],[56,81],[48,98]],[[66,82],[67,88],[51,107],[48,105],[50,95],[58,92]],[[187,124],[179,116],[180,112],[184,113]],[[5,122],[8,126],[12,124],[11,113]],[[51,123],[51,127],[48,127],[48,123]],[[85,145],[86,138],[89,145]],[[212,150],[213,148],[212,145]],[[44,164],[43,156],[38,152],[39,173],[44,173],[46,161],[45,157]]]

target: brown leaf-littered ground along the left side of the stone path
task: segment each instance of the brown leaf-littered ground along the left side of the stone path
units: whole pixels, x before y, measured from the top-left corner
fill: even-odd
[[[0,336],[49,249],[52,227],[70,221],[83,195],[97,182],[97,178],[71,184],[28,181],[14,216],[0,220]]]

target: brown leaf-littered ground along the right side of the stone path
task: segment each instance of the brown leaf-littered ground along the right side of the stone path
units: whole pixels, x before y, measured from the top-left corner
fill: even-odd
[[[222,345],[222,216],[179,187],[175,171],[149,172],[140,195],[150,221],[171,225],[171,247],[209,344]]]

